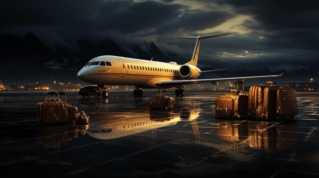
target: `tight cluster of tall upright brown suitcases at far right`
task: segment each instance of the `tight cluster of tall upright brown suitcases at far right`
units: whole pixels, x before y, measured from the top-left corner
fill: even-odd
[[[294,118],[298,115],[296,91],[277,83],[253,85],[249,89],[248,116],[255,118]]]

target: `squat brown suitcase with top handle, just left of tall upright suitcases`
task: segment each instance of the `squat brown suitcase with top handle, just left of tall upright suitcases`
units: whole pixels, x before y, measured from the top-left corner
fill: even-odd
[[[237,90],[222,94],[216,98],[215,115],[223,117],[247,116],[248,96]]]

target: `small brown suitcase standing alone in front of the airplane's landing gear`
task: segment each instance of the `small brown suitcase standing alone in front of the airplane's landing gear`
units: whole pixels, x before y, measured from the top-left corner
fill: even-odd
[[[157,96],[150,99],[150,108],[155,110],[172,110],[174,109],[174,98],[166,95],[166,90],[157,91]]]

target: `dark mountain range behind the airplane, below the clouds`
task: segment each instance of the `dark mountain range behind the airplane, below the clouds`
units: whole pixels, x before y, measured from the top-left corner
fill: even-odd
[[[6,85],[16,83],[25,85],[40,82],[49,84],[52,81],[79,83],[76,74],[90,59],[101,55],[116,55],[156,61],[174,61],[171,56],[164,54],[153,42],[120,46],[110,38],[93,42],[90,40],[66,40],[68,45],[46,46],[35,34],[29,32],[23,37],[16,34],[0,34],[0,80]],[[176,58],[176,56],[174,56]],[[178,57],[177,57],[178,58]],[[176,61],[178,62],[178,61]],[[214,63],[211,66],[227,68]],[[202,70],[216,69],[207,66]],[[318,76],[316,67],[301,69],[298,72],[285,73],[284,80],[296,81]],[[253,70],[238,69],[224,72],[203,74],[201,78],[221,78],[236,76],[256,76],[274,74],[269,68]],[[302,74],[302,75],[301,75]]]

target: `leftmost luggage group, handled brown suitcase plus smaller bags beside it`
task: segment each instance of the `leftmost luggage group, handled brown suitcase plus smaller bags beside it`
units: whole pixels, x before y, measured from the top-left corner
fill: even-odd
[[[64,101],[60,99],[64,95]],[[54,97],[51,97],[54,96]],[[77,113],[77,108],[66,102],[65,92],[48,92],[44,102],[37,103],[37,121],[39,124],[89,124],[89,116],[84,112]]]

